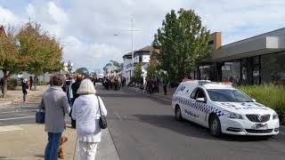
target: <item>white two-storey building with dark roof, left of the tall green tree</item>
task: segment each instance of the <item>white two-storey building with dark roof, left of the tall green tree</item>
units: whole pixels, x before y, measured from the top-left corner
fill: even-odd
[[[142,62],[142,78],[143,83],[145,84],[145,79],[147,75],[147,68],[151,60],[151,54],[154,51],[152,46],[145,46],[142,49],[134,52],[134,66]],[[128,84],[133,76],[131,70],[134,70],[132,67],[132,52],[128,52],[123,56],[124,66],[122,76],[126,77],[126,84]]]

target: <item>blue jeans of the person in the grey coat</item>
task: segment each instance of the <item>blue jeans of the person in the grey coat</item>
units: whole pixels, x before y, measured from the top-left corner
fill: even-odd
[[[62,132],[48,132],[48,142],[45,147],[45,160],[57,160]]]

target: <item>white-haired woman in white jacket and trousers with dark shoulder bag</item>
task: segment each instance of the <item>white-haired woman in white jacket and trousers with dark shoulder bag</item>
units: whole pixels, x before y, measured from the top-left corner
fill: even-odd
[[[95,159],[97,144],[101,142],[99,109],[101,108],[102,116],[107,116],[102,99],[95,93],[94,84],[89,79],[83,80],[77,90],[79,97],[72,108],[71,116],[76,120],[80,160]]]

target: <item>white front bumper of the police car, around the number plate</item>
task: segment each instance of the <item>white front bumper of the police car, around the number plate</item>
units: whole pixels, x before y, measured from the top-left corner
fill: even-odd
[[[265,123],[256,123],[248,119],[231,119],[224,116],[220,118],[220,121],[222,132],[226,134],[266,136],[279,133],[279,119],[271,119]],[[267,128],[256,130],[253,128],[255,124],[267,124]]]

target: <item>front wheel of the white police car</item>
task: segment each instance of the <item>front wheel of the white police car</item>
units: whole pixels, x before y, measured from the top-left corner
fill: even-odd
[[[208,128],[211,135],[215,137],[222,135],[220,119],[216,114],[209,117]]]

